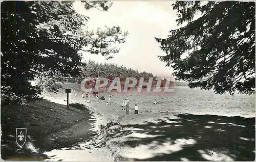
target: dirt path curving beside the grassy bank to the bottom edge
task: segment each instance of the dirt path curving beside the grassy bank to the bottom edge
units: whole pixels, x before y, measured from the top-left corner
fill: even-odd
[[[63,91],[63,90],[62,90]],[[79,92],[78,92],[79,93]],[[65,104],[62,98],[63,92],[47,95],[44,98]],[[71,98],[72,99],[72,98]],[[77,95],[76,101],[83,103],[84,99]],[[72,103],[72,102],[71,102]],[[74,103],[74,100],[73,100]],[[45,152],[50,161],[113,161],[112,153],[104,147],[101,133],[98,129],[98,120],[103,118],[101,113],[89,105],[89,109],[94,112],[94,116],[88,124],[88,121],[81,121],[72,127],[53,133],[47,138],[51,141],[49,144],[54,146],[54,150]],[[65,119],[63,119],[65,120]]]

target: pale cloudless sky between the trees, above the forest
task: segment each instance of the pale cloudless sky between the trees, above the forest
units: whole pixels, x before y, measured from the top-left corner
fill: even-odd
[[[122,30],[129,32],[126,42],[121,44],[119,53],[115,53],[113,59],[106,61],[103,56],[86,52],[83,58],[151,72],[154,76],[171,76],[172,70],[157,58],[166,54],[154,37],[165,38],[170,30],[178,28],[172,3],[174,1],[113,1],[109,11],[99,11],[85,10],[80,1],[75,1],[75,10],[90,17],[89,29],[119,25]]]

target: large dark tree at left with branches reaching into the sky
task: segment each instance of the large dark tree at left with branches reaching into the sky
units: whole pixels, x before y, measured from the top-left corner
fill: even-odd
[[[83,3],[86,9],[106,11],[111,7],[108,1]],[[84,63],[78,51],[84,47],[90,47],[91,53],[95,48],[108,50],[101,52],[105,57],[115,53],[112,44],[124,42],[127,32],[116,26],[98,29],[106,41],[98,46],[93,37],[97,33],[83,30],[88,19],[77,14],[70,1],[1,2],[1,92],[37,97],[42,88],[31,86],[35,78],[79,76]]]

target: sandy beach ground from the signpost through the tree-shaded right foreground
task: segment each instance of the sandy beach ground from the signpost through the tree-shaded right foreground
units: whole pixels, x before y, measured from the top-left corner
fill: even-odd
[[[165,160],[182,161],[197,159],[229,161],[253,158],[255,147],[252,141],[254,141],[253,125],[255,125],[255,121],[253,123],[251,118],[173,113],[159,111],[159,109],[154,110],[153,105],[146,108],[139,106],[141,108],[138,115],[134,114],[133,106],[131,106],[130,115],[126,115],[126,112],[121,110],[122,98],[129,98],[131,105],[134,105],[138,102],[136,101],[137,96],[129,96],[129,93],[126,95],[111,93],[113,103],[106,105],[110,93],[105,92],[99,94],[99,96],[104,96],[105,100],[91,97],[88,98],[91,103],[84,103],[79,85],[66,84],[65,86],[65,88],[76,89],[76,95],[73,94],[70,97],[71,103],[86,104],[94,113],[96,122],[93,129],[98,132],[98,135],[92,140],[93,142],[82,142],[73,149],[62,148],[46,152],[48,157],[53,156],[47,160],[163,160],[163,155],[166,156],[163,156]],[[60,102],[56,98],[66,95],[61,91],[64,90],[44,98]],[[148,96],[150,101],[153,98]],[[65,103],[62,101],[62,104]],[[152,111],[146,111],[146,109]],[[212,134],[215,135],[212,136]],[[216,139],[217,137],[220,138]],[[90,142],[97,143],[97,141],[104,141],[104,145],[97,149],[91,148],[95,144],[90,144]],[[226,142],[227,145],[223,142]],[[216,147],[212,147],[209,143],[215,143]],[[233,148],[234,143],[239,146],[239,150]],[[245,149],[245,146],[248,147],[248,150]],[[187,151],[184,148],[191,149],[191,153],[182,154]],[[241,149],[247,156],[243,154],[243,158],[240,158],[242,157],[240,156]],[[76,152],[77,156],[72,154],[73,152]],[[138,154],[138,152],[140,153]],[[83,157],[80,156],[81,154]],[[78,156],[79,158],[75,158]]]

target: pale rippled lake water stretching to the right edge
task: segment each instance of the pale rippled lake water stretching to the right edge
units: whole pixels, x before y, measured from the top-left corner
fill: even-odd
[[[132,106],[133,102],[138,103],[140,110],[152,112],[255,117],[255,95],[218,95],[214,91],[176,87],[173,94],[142,96],[133,93],[129,98]],[[157,104],[152,105],[155,99]]]

